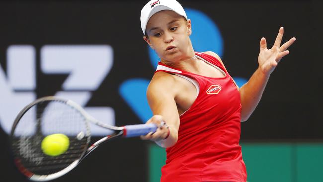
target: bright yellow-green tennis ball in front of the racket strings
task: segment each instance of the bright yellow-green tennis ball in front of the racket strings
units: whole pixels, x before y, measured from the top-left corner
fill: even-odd
[[[69,145],[69,138],[64,134],[57,133],[46,136],[41,143],[41,148],[46,155],[58,156],[63,154]]]

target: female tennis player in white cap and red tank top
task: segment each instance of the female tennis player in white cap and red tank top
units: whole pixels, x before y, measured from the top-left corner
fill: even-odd
[[[147,123],[167,125],[142,136],[166,148],[161,182],[245,182],[240,122],[258,105],[270,74],[295,38],[271,49],[260,40],[259,67],[241,88],[214,52],[195,52],[192,23],[176,0],[151,0],[141,10],[144,40],[161,61],[148,86],[154,116]]]

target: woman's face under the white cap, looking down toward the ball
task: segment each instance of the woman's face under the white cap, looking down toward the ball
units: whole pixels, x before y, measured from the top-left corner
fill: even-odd
[[[147,23],[146,33],[148,37],[144,36],[144,40],[161,59],[173,62],[191,56],[191,22],[174,11],[154,14]]]

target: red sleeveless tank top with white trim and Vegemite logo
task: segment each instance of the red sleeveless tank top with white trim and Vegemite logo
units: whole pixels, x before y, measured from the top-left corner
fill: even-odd
[[[184,77],[198,89],[191,107],[180,116],[177,143],[166,149],[161,182],[246,182],[240,139],[240,94],[215,57],[196,56],[219,69],[225,77],[212,78],[158,63],[163,71]]]

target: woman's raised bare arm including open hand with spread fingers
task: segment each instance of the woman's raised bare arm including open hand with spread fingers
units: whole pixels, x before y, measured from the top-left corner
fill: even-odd
[[[251,76],[249,81],[239,89],[242,105],[242,122],[246,121],[257,107],[262,93],[265,90],[270,74],[274,71],[279,61],[284,56],[289,54],[289,51],[286,49],[296,40],[296,38],[293,37],[285,44],[280,46],[283,34],[284,29],[281,27],[271,49],[267,49],[265,38],[261,38],[260,40],[260,53],[258,57],[259,67]]]

